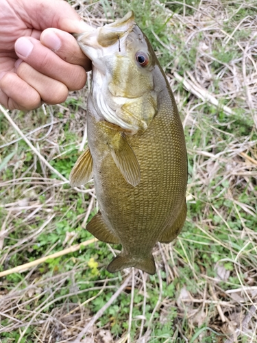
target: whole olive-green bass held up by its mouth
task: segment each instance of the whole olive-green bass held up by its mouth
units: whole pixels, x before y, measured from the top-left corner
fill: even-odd
[[[155,274],[154,246],[173,241],[186,220],[186,143],[171,87],[134,12],[74,36],[92,60],[93,80],[88,147],[71,187],[94,178],[99,211],[86,229],[122,245],[108,272]]]

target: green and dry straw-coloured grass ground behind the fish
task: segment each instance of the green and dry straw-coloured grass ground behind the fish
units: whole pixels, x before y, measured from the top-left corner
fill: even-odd
[[[156,245],[154,276],[108,273],[106,265],[121,247],[97,241],[1,278],[0,342],[73,342],[96,314],[84,342],[256,342],[254,1],[73,5],[91,25],[132,9],[149,36],[184,123],[188,216],[176,241]],[[84,89],[58,106],[10,113],[64,178],[82,145],[86,97]],[[92,238],[85,226],[97,211],[93,183],[71,189],[2,114],[0,133],[0,271]]]

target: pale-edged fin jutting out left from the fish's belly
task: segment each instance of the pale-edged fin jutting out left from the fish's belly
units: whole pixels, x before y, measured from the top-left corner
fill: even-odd
[[[71,187],[85,185],[93,176],[93,159],[89,147],[77,159],[69,177]]]

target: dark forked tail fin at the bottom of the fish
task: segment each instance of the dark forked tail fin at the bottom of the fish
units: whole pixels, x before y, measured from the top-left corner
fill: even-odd
[[[107,270],[110,273],[114,273],[128,267],[138,268],[151,275],[154,275],[156,272],[156,264],[154,263],[153,255],[150,255],[146,259],[136,259],[128,255],[123,255],[122,252],[121,255],[118,255],[112,260],[108,265]]]

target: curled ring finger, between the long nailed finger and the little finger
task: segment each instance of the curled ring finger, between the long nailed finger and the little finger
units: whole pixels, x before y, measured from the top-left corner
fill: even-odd
[[[21,62],[17,75],[36,89],[41,99],[47,104],[60,104],[68,97],[69,90],[65,84],[40,73],[26,62]]]

